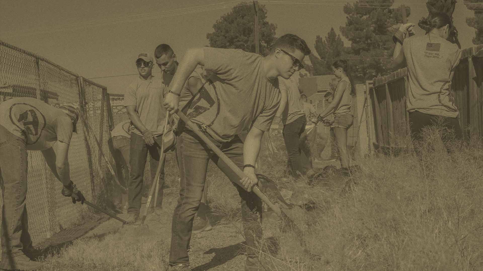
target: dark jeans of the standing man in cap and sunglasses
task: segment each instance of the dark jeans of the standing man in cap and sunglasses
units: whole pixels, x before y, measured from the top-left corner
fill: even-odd
[[[146,166],[146,158],[149,152],[151,156],[150,167],[151,167],[151,178],[153,181],[156,176],[156,169],[159,163],[160,150],[161,150],[162,136],[157,136],[153,146],[149,146],[144,142],[142,136],[131,133],[131,145],[130,145],[130,155],[129,164],[131,165],[131,171],[129,173],[129,208],[128,214],[139,215],[141,210],[141,198],[144,193],[143,189],[143,177],[144,177],[144,167]],[[152,184],[152,182],[150,182]],[[159,190],[157,198],[157,206],[161,206],[163,202],[163,186],[164,186],[164,166],[159,172]],[[147,188],[149,190],[149,188]]]

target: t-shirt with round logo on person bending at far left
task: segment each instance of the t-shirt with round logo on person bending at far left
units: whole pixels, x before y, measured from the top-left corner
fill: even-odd
[[[14,98],[1,103],[0,125],[24,138],[28,150],[49,149],[57,140],[71,143],[71,118],[38,99]]]

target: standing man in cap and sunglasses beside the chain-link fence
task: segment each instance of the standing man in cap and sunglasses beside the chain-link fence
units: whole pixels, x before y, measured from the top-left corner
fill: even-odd
[[[128,187],[128,223],[135,223],[141,209],[142,195],[148,189],[143,189],[144,167],[149,152],[151,178],[156,175],[160,158],[161,140],[164,129],[166,110],[163,103],[165,85],[161,78],[154,77],[153,57],[146,53],[136,58],[139,77],[133,81],[124,94],[124,107],[128,111],[131,126],[129,128],[131,142],[129,147],[129,187]],[[164,168],[159,174],[158,202],[163,201]]]

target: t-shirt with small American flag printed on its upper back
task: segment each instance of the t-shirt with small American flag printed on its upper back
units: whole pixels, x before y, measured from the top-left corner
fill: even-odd
[[[405,39],[402,48],[409,73],[407,110],[457,117],[450,74],[461,58],[458,46],[427,34]]]

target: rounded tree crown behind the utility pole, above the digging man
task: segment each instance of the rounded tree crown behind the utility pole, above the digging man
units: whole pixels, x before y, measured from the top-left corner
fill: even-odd
[[[235,6],[213,25],[214,31],[206,34],[211,47],[242,49],[255,53],[255,10],[253,4]],[[257,4],[260,54],[268,55],[276,40],[277,26],[267,21],[267,8]]]

